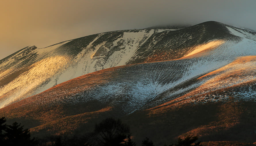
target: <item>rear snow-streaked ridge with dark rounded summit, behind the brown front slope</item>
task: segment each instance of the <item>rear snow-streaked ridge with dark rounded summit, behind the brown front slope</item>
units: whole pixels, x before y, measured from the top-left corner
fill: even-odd
[[[218,22],[184,29],[112,31],[46,48],[26,47],[0,61],[0,107],[101,69],[179,59],[241,38]]]

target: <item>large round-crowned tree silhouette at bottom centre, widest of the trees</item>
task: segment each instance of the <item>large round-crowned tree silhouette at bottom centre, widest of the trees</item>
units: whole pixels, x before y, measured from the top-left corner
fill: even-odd
[[[121,122],[120,119],[107,118],[95,125],[95,133],[99,135],[98,139],[105,146],[123,145],[124,139],[130,133],[128,125]]]

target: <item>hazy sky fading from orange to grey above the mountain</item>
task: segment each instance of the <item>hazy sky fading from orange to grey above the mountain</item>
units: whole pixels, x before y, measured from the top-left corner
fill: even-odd
[[[157,25],[218,21],[256,30],[256,0],[1,0],[0,59],[29,45]]]

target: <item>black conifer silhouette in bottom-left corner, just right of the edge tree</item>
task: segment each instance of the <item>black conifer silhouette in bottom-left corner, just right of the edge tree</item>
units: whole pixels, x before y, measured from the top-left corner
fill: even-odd
[[[24,129],[24,126],[21,126],[17,122],[14,122],[12,125],[7,125],[5,129],[5,142],[9,146],[16,145],[34,145],[35,139],[30,139],[30,131],[28,129]]]

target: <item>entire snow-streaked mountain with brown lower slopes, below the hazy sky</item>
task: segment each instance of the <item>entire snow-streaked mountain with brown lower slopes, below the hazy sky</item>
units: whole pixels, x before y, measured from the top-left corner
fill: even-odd
[[[116,117],[136,141],[255,142],[255,31],[214,21],[113,31],[0,63],[0,113],[35,135],[83,133]]]

